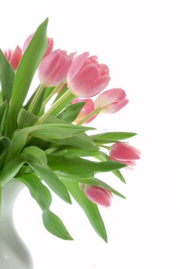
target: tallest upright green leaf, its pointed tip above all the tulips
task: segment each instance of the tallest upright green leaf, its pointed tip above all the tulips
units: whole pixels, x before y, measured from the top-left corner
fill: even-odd
[[[19,110],[25,101],[33,76],[47,47],[48,18],[37,28],[19,62],[11,97],[11,122],[16,128]]]

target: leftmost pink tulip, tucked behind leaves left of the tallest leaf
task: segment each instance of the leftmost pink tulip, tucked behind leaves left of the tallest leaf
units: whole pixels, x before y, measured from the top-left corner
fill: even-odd
[[[16,72],[20,59],[22,57],[22,49],[19,48],[19,46],[16,46],[14,50],[7,48],[7,50],[4,51],[4,55],[6,56],[8,62],[10,63],[14,71]]]

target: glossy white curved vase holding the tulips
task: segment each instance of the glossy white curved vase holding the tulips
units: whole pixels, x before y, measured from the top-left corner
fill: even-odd
[[[0,221],[0,268],[33,269],[33,262],[28,248],[19,237],[13,222],[13,207],[19,193],[25,185],[13,180],[2,189]]]

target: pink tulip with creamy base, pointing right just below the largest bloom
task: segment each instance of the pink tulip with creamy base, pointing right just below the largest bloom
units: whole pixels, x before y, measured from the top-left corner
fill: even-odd
[[[103,113],[115,113],[127,105],[126,93],[123,89],[114,88],[102,92],[95,100],[94,107]]]

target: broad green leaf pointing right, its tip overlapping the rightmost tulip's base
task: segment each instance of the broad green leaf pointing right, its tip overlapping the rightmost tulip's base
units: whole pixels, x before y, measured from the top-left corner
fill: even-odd
[[[53,171],[60,171],[71,178],[93,178],[94,174],[110,172],[126,166],[117,161],[93,162],[83,158],[67,158],[62,155],[47,155],[48,166]]]

